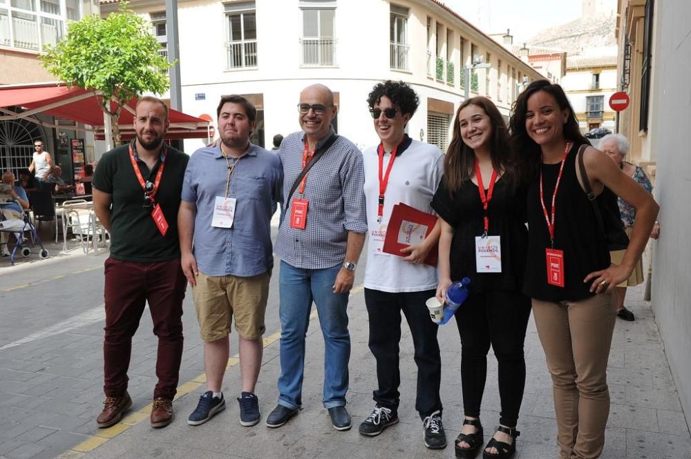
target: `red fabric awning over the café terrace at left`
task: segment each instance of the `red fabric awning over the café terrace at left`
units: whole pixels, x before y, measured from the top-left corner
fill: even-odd
[[[70,119],[93,127],[97,139],[104,139],[103,111],[97,100],[100,97],[95,91],[82,88],[67,88],[64,84],[33,84],[0,86],[0,121],[5,119],[24,118],[37,124],[44,124],[32,115],[44,113],[54,117]],[[122,139],[134,137],[133,120],[137,99],[131,99],[120,113],[118,126]],[[12,113],[3,110],[11,106],[25,108],[23,113]],[[115,103],[111,102],[111,110]],[[178,110],[169,110],[170,128],[168,139],[200,139],[209,135],[209,121],[193,117]],[[45,125],[45,124],[44,124]]]

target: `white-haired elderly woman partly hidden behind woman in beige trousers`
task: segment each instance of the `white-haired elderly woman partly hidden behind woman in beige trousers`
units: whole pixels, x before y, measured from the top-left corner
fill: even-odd
[[[600,150],[603,150],[607,155],[614,160],[614,162],[624,171],[626,175],[632,177],[636,183],[643,186],[645,191],[652,193],[652,184],[648,179],[641,166],[635,166],[630,162],[624,161],[624,158],[629,153],[631,144],[628,139],[621,134],[608,134],[600,141]],[[624,224],[627,235],[631,235],[634,228],[634,220],[636,219],[636,209],[631,204],[627,203],[621,197],[618,199],[619,213],[621,213],[621,222]],[[653,226],[650,237],[657,239],[660,235],[660,226],[656,223]],[[612,263],[621,263],[624,251],[614,251],[610,254]],[[643,262],[639,258],[636,263],[636,268],[631,273],[631,276],[616,287],[617,297],[617,311],[618,318],[623,320],[634,320],[634,313],[624,307],[624,298],[626,296],[626,287],[641,284],[643,282]]]

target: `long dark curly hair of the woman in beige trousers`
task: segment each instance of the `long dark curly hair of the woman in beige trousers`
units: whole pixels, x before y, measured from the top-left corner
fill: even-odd
[[[580,133],[578,127],[578,119],[574,113],[574,108],[571,107],[569,99],[561,86],[552,84],[546,79],[538,79],[533,81],[528,87],[518,95],[511,110],[511,119],[509,119],[509,131],[511,133],[511,144],[518,153],[518,158],[522,164],[521,170],[526,179],[534,179],[538,175],[540,162],[542,162],[540,146],[531,139],[528,131],[525,128],[525,117],[528,112],[528,99],[531,95],[538,91],[545,91],[551,95],[556,101],[561,110],[569,110],[569,117],[564,124],[564,138],[574,144],[588,144],[590,141]]]

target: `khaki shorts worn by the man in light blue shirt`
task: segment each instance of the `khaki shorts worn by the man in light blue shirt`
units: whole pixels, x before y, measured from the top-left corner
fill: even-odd
[[[235,329],[245,340],[256,340],[266,331],[264,314],[269,298],[269,271],[252,277],[208,276],[199,273],[192,289],[202,341],[211,342]]]

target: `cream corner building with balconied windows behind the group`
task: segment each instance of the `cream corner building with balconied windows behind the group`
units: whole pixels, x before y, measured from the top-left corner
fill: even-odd
[[[102,14],[116,8],[102,1]],[[167,41],[163,1],[131,8]],[[473,72],[471,97],[490,97],[507,118],[518,84],[541,77],[435,0],[180,0],[178,9],[182,108],[215,122],[222,95],[246,95],[260,111],[254,141],[264,146],[299,130],[299,92],[313,83],[336,92],[337,132],[365,147],[378,141],[368,92],[385,79],[407,81],[420,98],[408,134],[446,150],[473,55],[492,67]],[[185,142],[189,152],[200,146]]]

